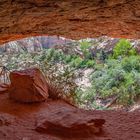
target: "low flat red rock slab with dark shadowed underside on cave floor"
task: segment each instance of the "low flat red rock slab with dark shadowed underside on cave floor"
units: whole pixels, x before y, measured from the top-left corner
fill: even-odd
[[[87,117],[87,116],[88,117]],[[40,123],[43,121],[42,123]],[[51,118],[39,120],[36,131],[60,137],[90,137],[102,133],[104,119],[93,118],[77,109],[52,113]]]

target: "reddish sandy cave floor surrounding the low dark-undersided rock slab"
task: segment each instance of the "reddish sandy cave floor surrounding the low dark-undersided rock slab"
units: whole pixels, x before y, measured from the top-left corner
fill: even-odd
[[[20,104],[0,95],[0,140],[69,140],[35,131],[37,121],[52,117],[56,112],[69,112],[75,107],[64,101],[46,101],[41,104]],[[84,111],[93,118],[106,120],[103,134],[78,140],[139,140],[140,110],[128,113],[121,111]],[[60,114],[62,115],[62,114]],[[2,123],[4,120],[5,123]],[[71,138],[75,140],[77,138]]]

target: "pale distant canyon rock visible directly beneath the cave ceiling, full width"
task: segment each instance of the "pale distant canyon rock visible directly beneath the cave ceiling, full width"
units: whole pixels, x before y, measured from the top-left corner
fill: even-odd
[[[37,53],[43,49],[55,48],[62,49],[65,53],[69,53],[71,48],[74,48],[75,45],[78,47],[81,40],[72,40],[67,39],[61,36],[33,36],[27,37],[15,41],[0,44],[0,55],[6,54],[15,54],[15,53]],[[101,36],[98,38],[86,38],[85,40],[90,41],[93,50],[103,49],[106,52],[112,51],[115,45],[118,43],[120,38],[111,38],[107,36]],[[132,46],[137,48],[139,52],[140,48],[140,39],[129,39]],[[79,47],[78,47],[79,48]]]

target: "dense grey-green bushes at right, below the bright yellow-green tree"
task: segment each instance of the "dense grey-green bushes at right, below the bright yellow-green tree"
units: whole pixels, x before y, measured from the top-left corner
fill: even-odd
[[[115,95],[120,104],[133,103],[140,95],[139,60],[140,56],[130,56],[122,61],[109,59],[104,65],[96,64],[92,86],[86,90],[84,98],[92,103],[96,96],[106,99]]]

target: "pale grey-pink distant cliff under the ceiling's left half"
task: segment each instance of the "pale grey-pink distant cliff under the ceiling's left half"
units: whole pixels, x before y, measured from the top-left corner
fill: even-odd
[[[22,53],[24,52],[39,52],[42,49],[53,48],[55,46],[71,43],[71,39],[66,39],[57,36],[35,36],[23,38],[20,40],[11,41],[0,45],[0,54],[3,53]]]

